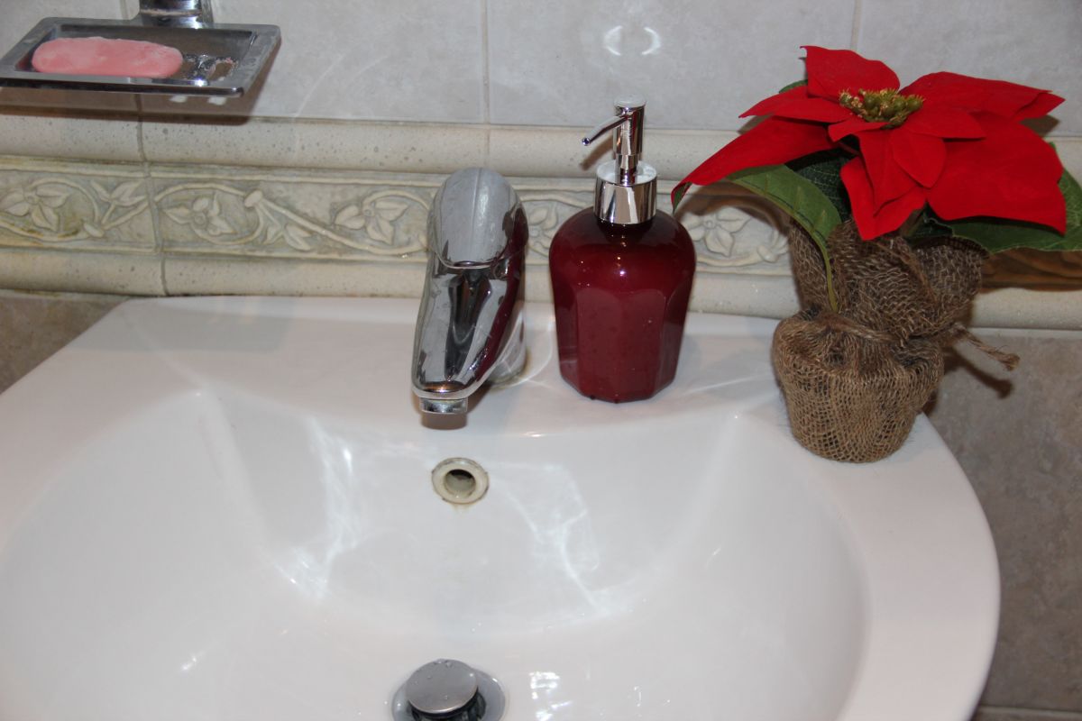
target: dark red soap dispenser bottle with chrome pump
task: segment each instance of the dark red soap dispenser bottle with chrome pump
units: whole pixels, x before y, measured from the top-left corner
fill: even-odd
[[[658,213],[657,171],[641,162],[646,103],[616,102],[613,159],[597,169],[593,209],[567,219],[549,251],[559,371],[582,393],[649,398],[676,374],[695,273],[687,230]]]

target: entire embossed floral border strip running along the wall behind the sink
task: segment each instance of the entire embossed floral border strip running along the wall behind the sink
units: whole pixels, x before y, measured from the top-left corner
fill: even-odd
[[[0,248],[420,265],[445,177],[0,157]],[[527,262],[543,266],[556,230],[593,203],[593,182],[511,181],[529,221]],[[660,188],[661,209],[670,189]],[[777,211],[755,196],[699,188],[678,218],[700,273],[789,275]],[[1004,254],[989,265],[987,283],[1080,288],[1077,265],[1073,257]]]

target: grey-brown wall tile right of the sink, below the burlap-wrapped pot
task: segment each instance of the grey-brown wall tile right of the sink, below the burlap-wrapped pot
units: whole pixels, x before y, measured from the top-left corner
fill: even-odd
[[[929,415],[999,552],[1000,636],[984,700],[1082,712],[1082,333],[977,335],[1020,365],[1006,373],[959,347]]]

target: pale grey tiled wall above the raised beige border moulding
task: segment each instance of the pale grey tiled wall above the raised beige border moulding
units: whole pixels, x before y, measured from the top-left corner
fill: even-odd
[[[136,9],[135,0],[10,2],[0,46],[43,16]],[[657,128],[735,131],[740,112],[800,78],[800,46],[814,44],[883,59],[903,83],[949,69],[1053,89],[1069,98],[1053,133],[1082,134],[1077,0],[215,0],[214,13],[279,25],[283,42],[258,98],[189,102],[187,111],[590,126],[631,91],[652,99]]]

